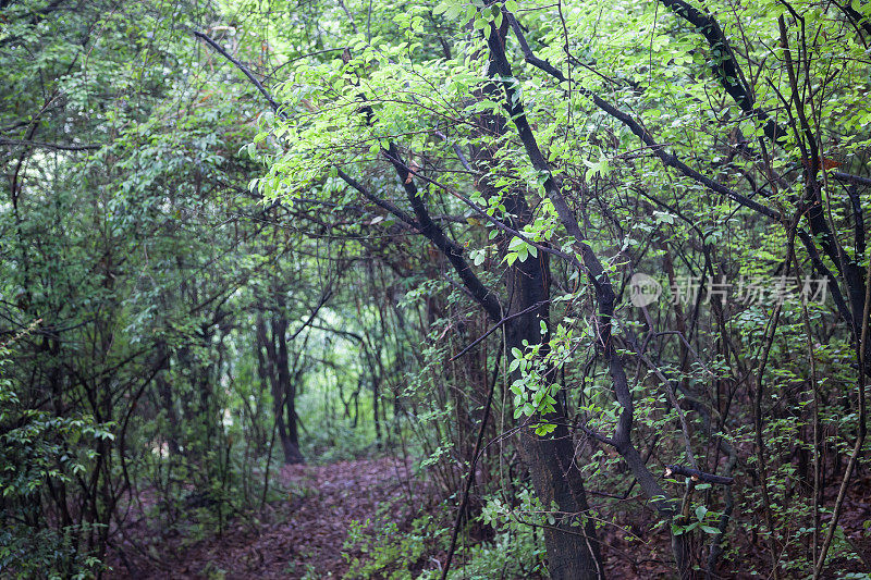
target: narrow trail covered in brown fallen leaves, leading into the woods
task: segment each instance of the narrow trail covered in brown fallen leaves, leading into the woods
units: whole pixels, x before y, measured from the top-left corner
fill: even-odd
[[[340,461],[326,466],[284,466],[274,483],[290,490],[270,504],[267,521],[236,518],[223,534],[184,546],[168,542],[152,558],[112,558],[108,578],[122,579],[287,579],[342,578],[347,564],[342,545],[351,522],[366,521],[379,504],[405,496],[407,466],[393,458]],[[157,560],[160,562],[157,562]]]

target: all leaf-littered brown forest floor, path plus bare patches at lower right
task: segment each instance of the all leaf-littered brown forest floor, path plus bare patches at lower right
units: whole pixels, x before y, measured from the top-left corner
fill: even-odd
[[[110,579],[320,579],[343,578],[351,557],[364,556],[345,547],[353,522],[376,526],[384,517],[400,529],[432,505],[433,491],[409,474],[410,462],[395,458],[357,459],[321,466],[284,466],[277,470],[272,485],[285,490],[256,519],[252,515],[232,518],[220,534],[160,533],[146,527],[145,518],[132,522],[122,534],[124,542],[109,555]],[[826,505],[834,503],[837,484],[826,486]],[[596,498],[593,497],[593,501]],[[384,511],[388,510],[388,514]],[[639,514],[624,514],[633,521],[628,530],[647,535]],[[860,553],[871,556],[871,538],[862,533],[871,520],[871,472],[861,470],[850,486],[842,525]],[[195,528],[191,528],[192,530]],[[377,533],[369,530],[368,533]],[[672,571],[666,540],[653,534],[643,546],[625,541],[613,527],[601,532],[609,578],[668,578]],[[145,540],[145,539],[152,540]],[[136,539],[136,544],[130,539]],[[139,542],[146,542],[145,544]],[[738,536],[733,550],[752,558],[766,558],[765,544]],[[441,559],[444,553],[432,554]],[[434,559],[433,559],[434,562]],[[760,560],[761,562],[761,560]],[[845,563],[848,567],[860,563]],[[725,568],[732,568],[725,564]],[[728,578],[749,578],[725,572]]]

